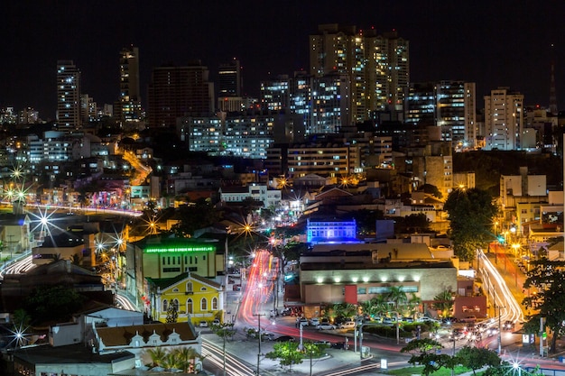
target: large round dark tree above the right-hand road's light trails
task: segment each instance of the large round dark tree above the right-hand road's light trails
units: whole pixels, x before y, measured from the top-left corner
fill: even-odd
[[[492,227],[498,207],[493,197],[478,188],[457,188],[449,194],[443,209],[449,215],[455,254],[462,261],[472,261],[477,249],[495,238]]]

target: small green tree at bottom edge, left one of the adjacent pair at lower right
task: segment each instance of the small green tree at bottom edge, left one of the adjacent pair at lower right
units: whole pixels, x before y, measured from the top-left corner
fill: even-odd
[[[437,353],[441,348],[443,346],[439,342],[431,338],[424,338],[411,341],[400,352],[411,353],[412,356],[408,362],[412,365],[421,364],[423,366],[421,374],[428,376],[450,364],[449,355]]]

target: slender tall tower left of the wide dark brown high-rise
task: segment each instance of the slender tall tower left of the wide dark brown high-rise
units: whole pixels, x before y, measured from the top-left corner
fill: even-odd
[[[125,122],[139,122],[142,117],[139,89],[139,49],[134,46],[120,51],[120,95],[114,105],[114,117]]]

